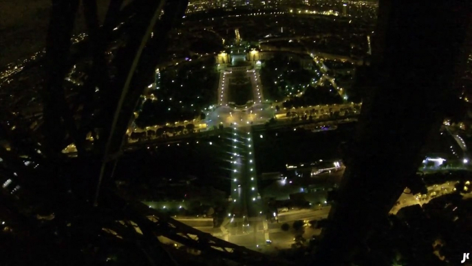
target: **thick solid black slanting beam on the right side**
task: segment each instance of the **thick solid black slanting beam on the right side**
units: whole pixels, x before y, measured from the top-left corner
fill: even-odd
[[[329,226],[310,265],[350,265],[369,232],[414,178],[431,130],[458,99],[470,52],[470,1],[383,1],[373,80],[363,101]]]

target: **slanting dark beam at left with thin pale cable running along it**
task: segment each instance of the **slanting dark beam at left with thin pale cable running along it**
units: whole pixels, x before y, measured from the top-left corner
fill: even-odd
[[[136,107],[142,89],[145,88],[146,81],[149,80],[149,76],[142,76],[141,73],[149,68],[151,68],[152,73],[153,68],[157,65],[157,63],[153,65],[149,64],[151,62],[145,61],[146,59],[142,57],[142,55],[148,40],[151,39],[151,32],[154,30],[154,26],[163,11],[164,1],[155,1],[151,3],[151,6],[142,5],[139,6],[139,8],[137,14],[140,16],[140,19],[133,21],[134,25],[131,26],[133,31],[130,32],[129,43],[127,43],[124,50],[116,54],[115,60],[120,62],[119,65],[116,65],[118,68],[116,71],[116,79],[111,80],[111,86],[106,89],[118,89],[120,93],[109,93],[111,99],[102,102],[106,110],[115,111],[103,112],[103,114],[101,114],[103,116],[102,121],[105,124],[102,129],[102,134],[100,134],[100,141],[98,141],[98,149],[103,152],[103,163],[98,176],[98,185],[94,199],[95,205],[98,204],[98,193],[100,192],[103,176],[106,174],[105,171],[107,171],[107,165],[110,161],[116,159],[115,154],[121,150],[122,141],[127,125],[129,125],[129,121],[131,120],[132,112]],[[160,37],[164,38],[165,35],[161,35]],[[149,45],[151,45],[151,43],[149,43]],[[133,55],[132,57],[130,56],[131,54]],[[147,73],[149,73],[149,71],[147,71]]]

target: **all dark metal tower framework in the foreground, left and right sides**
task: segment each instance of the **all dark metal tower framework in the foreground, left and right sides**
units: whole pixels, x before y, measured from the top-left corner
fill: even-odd
[[[155,236],[245,265],[275,265],[257,252],[200,232],[145,205],[127,203],[108,189],[138,97],[152,82],[169,30],[182,17],[186,1],[133,0],[127,6],[122,6],[124,1],[111,1],[105,22],[98,26],[96,3],[84,0],[89,37],[73,51],[71,37],[78,4],[78,0],[53,1],[44,61],[44,139],[23,140],[28,147],[21,147],[22,152],[28,151],[28,160],[41,165],[39,170],[35,170],[38,165],[26,167],[17,150],[0,147],[0,157],[10,167],[0,173],[2,181],[8,178],[13,182],[7,187],[10,193],[0,194],[2,221],[30,234],[41,222],[25,210],[31,212],[31,203],[41,202],[54,210],[54,234],[68,232],[69,221],[72,226],[82,225],[76,216],[96,221],[97,225],[84,226],[94,233],[100,232],[98,226],[105,221],[120,236],[140,241],[140,251],[149,265],[156,261],[176,264]],[[418,154],[425,136],[439,128],[451,103],[448,99],[455,96],[454,81],[462,74],[465,44],[471,40],[471,3],[467,1],[385,0],[380,1],[379,18],[373,40],[372,90],[363,103],[354,142],[345,151],[347,170],[338,203],[330,213],[330,226],[323,232],[312,261],[315,265],[348,265],[371,225],[388,214],[410,183],[422,159]],[[151,38],[151,32],[155,37]],[[111,40],[120,38],[122,43],[114,56],[106,57]],[[86,55],[92,58],[92,67],[76,102],[68,103],[65,74]],[[85,147],[89,132],[95,139],[92,149]],[[61,154],[71,140],[78,149],[76,168]],[[69,177],[74,169],[86,167],[83,176],[77,175],[83,178]],[[14,194],[16,185],[24,192]],[[84,193],[91,187],[90,193]],[[19,198],[30,203],[21,211]],[[131,222],[142,236],[131,228]]]

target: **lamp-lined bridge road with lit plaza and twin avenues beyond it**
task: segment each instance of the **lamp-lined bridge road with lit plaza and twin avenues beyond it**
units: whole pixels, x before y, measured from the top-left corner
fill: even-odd
[[[252,223],[249,218],[260,218],[263,214],[261,198],[257,190],[253,136],[250,127],[241,127],[240,125],[257,123],[259,119],[266,121],[273,117],[273,111],[268,105],[262,104],[264,96],[259,73],[255,69],[246,71],[246,76],[249,77],[253,90],[254,104],[243,110],[228,106],[228,83],[231,75],[232,72],[227,71],[223,71],[220,75],[218,89],[220,107],[212,115],[209,115],[208,122],[213,122],[213,125],[224,124],[233,127],[228,136],[232,143],[230,152],[232,182],[228,219],[229,223],[237,223],[237,227],[242,226],[241,231],[246,232],[248,228],[244,227],[248,227]],[[264,110],[270,110],[270,112],[267,114],[264,113]],[[239,232],[239,229],[237,231]]]

